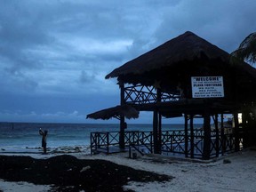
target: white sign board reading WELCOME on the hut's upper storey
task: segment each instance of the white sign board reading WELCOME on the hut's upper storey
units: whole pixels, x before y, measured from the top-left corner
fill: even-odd
[[[193,98],[224,97],[223,76],[191,76]]]

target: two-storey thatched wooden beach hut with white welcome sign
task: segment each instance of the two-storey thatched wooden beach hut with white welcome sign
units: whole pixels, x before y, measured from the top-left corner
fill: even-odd
[[[117,78],[120,106],[87,117],[118,117],[120,148],[126,144],[125,117],[137,118],[140,111],[153,113],[152,153],[177,152],[209,159],[253,144],[256,69],[192,32],[125,63],[106,78]],[[243,124],[239,124],[239,113]],[[234,116],[228,133],[225,114]],[[162,132],[163,116],[184,116],[184,132]],[[194,129],[197,116],[204,121],[201,132]]]

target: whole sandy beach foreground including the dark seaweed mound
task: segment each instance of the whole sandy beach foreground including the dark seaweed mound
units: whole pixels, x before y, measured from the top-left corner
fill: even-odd
[[[0,157],[0,191],[255,191],[256,150],[208,162],[128,154]]]

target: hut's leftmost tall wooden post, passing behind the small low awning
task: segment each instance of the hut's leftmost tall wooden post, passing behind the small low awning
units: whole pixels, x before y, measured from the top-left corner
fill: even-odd
[[[121,106],[124,105],[124,83],[122,81],[119,81],[119,87],[120,87],[120,104]],[[119,148],[124,149],[125,143],[124,143],[124,129],[126,127],[125,124],[125,118],[124,116],[120,116],[120,133],[119,133]]]

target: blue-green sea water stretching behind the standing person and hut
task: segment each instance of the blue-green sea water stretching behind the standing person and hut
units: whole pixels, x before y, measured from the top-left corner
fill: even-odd
[[[119,124],[0,123],[0,152],[38,151],[42,140],[39,128],[48,131],[47,148],[89,148],[90,132],[118,132]],[[180,129],[184,129],[183,124],[163,125],[163,130]],[[152,131],[152,124],[128,124],[127,131]]]

